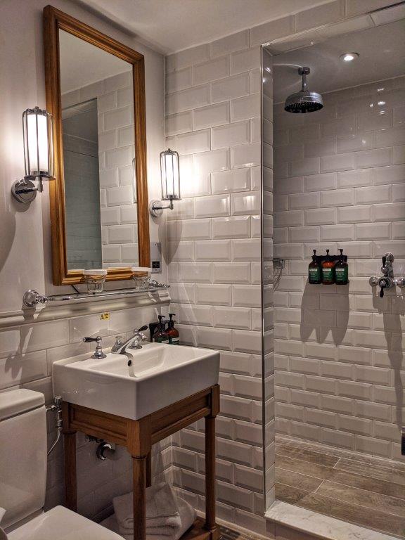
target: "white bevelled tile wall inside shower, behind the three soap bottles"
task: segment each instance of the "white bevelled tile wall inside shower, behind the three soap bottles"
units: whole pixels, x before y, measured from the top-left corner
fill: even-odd
[[[319,120],[274,106],[274,255],[287,259],[274,292],[276,426],[403,460],[404,297],[381,299],[368,277],[387,251],[405,273],[405,77],[323,97]],[[326,248],[349,256],[349,285],[307,283],[312,250]]]

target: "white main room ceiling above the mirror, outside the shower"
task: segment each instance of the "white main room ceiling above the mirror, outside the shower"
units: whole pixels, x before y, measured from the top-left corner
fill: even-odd
[[[332,0],[76,0],[173,53]]]

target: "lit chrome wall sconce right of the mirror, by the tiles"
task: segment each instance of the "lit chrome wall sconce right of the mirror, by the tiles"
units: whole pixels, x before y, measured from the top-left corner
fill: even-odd
[[[162,200],[169,200],[169,205],[163,206],[160,200],[151,200],[149,212],[154,217],[160,217],[163,210],[173,210],[173,201],[180,200],[180,160],[174,150],[160,153],[160,176],[162,181]]]

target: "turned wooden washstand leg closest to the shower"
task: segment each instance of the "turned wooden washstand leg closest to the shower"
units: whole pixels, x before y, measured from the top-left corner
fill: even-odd
[[[215,416],[205,417],[205,529],[219,538],[215,522]]]

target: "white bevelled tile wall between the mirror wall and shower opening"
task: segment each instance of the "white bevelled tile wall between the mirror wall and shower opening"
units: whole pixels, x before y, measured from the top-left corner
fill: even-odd
[[[264,532],[264,520],[255,516],[263,513],[255,496],[262,494],[264,473],[257,315],[262,303],[256,269],[261,53],[257,46],[249,48],[247,31],[215,41],[203,56],[198,50],[167,61],[167,143],[181,153],[184,197],[182,209],[176,205],[168,214],[171,309],[181,342],[221,352],[219,515],[226,509],[226,520],[243,526],[238,510],[243,511]],[[176,70],[177,65],[184,68]],[[173,437],[174,484],[188,498],[197,498],[198,508],[204,493],[203,429],[198,422]]]

